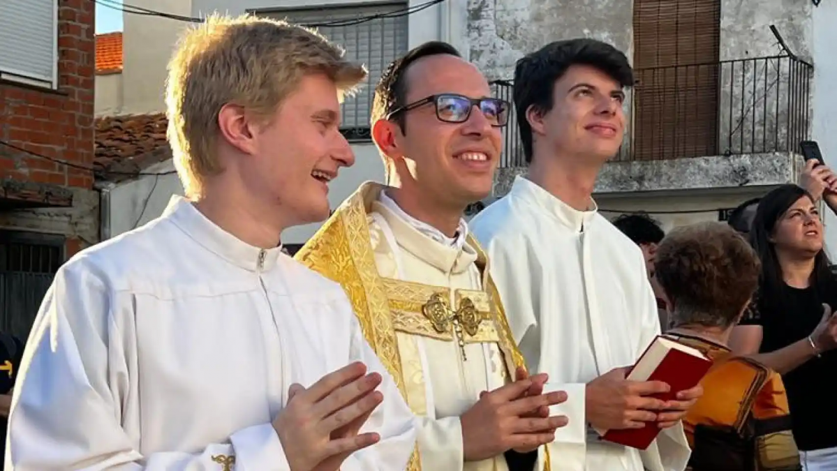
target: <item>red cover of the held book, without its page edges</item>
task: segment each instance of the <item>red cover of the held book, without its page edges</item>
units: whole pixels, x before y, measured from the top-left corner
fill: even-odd
[[[651,342],[645,351],[648,351],[653,344],[654,342]],[[648,378],[648,381],[668,383],[671,389],[669,392],[655,394],[651,397],[656,397],[662,401],[674,400],[678,392],[696,387],[711,366],[712,361],[708,358],[699,358],[683,351],[671,349]],[[660,427],[657,426],[657,422],[645,422],[645,427],[642,428],[608,430],[601,439],[644,450],[654,442],[659,434]]]

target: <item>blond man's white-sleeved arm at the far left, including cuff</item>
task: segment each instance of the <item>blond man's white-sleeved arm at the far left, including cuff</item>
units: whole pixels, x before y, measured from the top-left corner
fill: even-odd
[[[111,388],[127,377],[117,309],[102,280],[84,264],[56,274],[33,325],[9,417],[7,468],[16,471],[108,469],[177,471],[220,469],[235,456],[244,469],[288,470],[270,423],[233,433],[229,443],[207,443],[194,453],[137,449],[139,437],[121,427],[125,396]],[[127,381],[126,381],[127,384]]]

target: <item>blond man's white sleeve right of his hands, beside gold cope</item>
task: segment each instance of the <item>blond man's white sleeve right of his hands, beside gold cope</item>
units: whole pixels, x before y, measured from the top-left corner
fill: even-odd
[[[361,433],[375,432],[380,442],[353,453],[343,462],[341,471],[403,471],[407,468],[416,444],[416,417],[404,402],[398,386],[383,366],[375,351],[363,338],[360,324],[352,313],[352,305],[345,299],[344,311],[352,318],[351,361],[362,361],[367,371],[377,371],[383,377],[378,391],[383,402],[372,412],[361,427]]]

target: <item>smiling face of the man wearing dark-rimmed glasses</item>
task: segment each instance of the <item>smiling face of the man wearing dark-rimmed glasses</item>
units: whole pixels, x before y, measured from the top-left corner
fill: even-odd
[[[443,120],[460,110],[461,97],[490,98],[485,77],[473,64],[439,54],[418,59],[405,79],[406,104],[432,95],[460,95],[460,99],[439,100],[439,115],[432,102],[403,111],[406,132],[394,121],[377,121],[376,142],[396,163],[401,190],[460,211],[487,197],[500,159],[501,128],[493,126],[492,117],[476,105],[465,122]]]

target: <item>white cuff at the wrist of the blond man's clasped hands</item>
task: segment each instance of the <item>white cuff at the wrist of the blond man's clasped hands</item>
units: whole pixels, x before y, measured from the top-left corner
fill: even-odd
[[[243,428],[229,439],[233,443],[237,471],[290,471],[279,435],[270,423]]]

